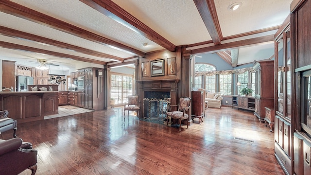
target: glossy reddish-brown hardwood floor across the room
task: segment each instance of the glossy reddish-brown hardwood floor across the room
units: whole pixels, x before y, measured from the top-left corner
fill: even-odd
[[[179,132],[134,115],[124,122],[115,108],[17,124],[17,136],[38,150],[36,175],[284,175],[274,133],[253,112],[208,108],[194,120]]]

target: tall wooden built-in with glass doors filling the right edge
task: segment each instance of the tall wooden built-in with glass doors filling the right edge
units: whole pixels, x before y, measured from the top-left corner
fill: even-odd
[[[311,175],[311,0],[293,0],[275,34],[275,156],[286,175]]]

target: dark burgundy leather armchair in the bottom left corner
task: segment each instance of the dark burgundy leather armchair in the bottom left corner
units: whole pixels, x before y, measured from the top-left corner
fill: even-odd
[[[37,151],[29,142],[20,138],[0,140],[0,174],[18,175],[26,169],[35,175],[37,169]]]

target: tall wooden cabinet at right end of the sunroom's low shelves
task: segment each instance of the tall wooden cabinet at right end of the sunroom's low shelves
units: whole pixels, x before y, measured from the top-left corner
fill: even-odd
[[[272,86],[274,84],[274,61],[260,61],[253,65],[255,70],[255,98],[256,108],[255,116],[259,118],[260,122],[264,122],[265,108],[274,107],[274,91]],[[271,87],[271,88],[270,88]]]

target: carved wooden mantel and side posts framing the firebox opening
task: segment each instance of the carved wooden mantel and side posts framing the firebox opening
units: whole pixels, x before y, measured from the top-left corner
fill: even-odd
[[[162,91],[170,92],[171,104],[176,105],[177,102],[177,86],[179,79],[165,79],[165,80],[141,80],[138,83],[139,101],[144,102],[146,91]],[[144,111],[139,112],[139,117],[145,116]]]

